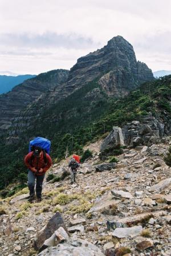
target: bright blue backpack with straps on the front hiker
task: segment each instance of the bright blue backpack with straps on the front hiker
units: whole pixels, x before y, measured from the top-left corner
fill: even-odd
[[[30,165],[32,166],[32,160],[36,155],[36,151],[43,151],[43,159],[45,165],[47,164],[46,153],[50,154],[51,142],[48,139],[42,137],[36,137],[29,143],[28,151],[33,151],[34,153],[30,159]]]

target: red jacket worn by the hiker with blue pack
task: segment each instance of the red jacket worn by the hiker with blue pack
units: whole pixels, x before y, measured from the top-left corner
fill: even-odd
[[[47,163],[45,163],[44,158],[43,158],[43,152],[41,152],[40,157],[39,158],[34,157],[31,161],[31,165],[30,165],[30,160],[31,160],[32,154],[33,154],[33,152],[30,152],[25,157],[25,164],[28,167],[28,169],[31,169],[32,167],[35,167],[36,170],[39,170],[40,168],[42,168],[43,173],[40,173],[40,174],[37,174],[37,175],[42,175],[42,174],[46,173],[46,171],[52,165],[52,159],[51,159],[50,155],[48,155],[46,153]]]

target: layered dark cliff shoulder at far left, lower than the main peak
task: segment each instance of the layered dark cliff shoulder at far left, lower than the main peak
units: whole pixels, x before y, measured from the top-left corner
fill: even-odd
[[[0,133],[8,129],[22,109],[36,101],[43,93],[66,82],[68,70],[52,70],[28,79],[0,96]]]

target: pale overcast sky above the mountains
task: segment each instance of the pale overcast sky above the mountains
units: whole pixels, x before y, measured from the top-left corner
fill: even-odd
[[[171,70],[171,0],[0,0],[0,71],[70,69],[116,35]]]

